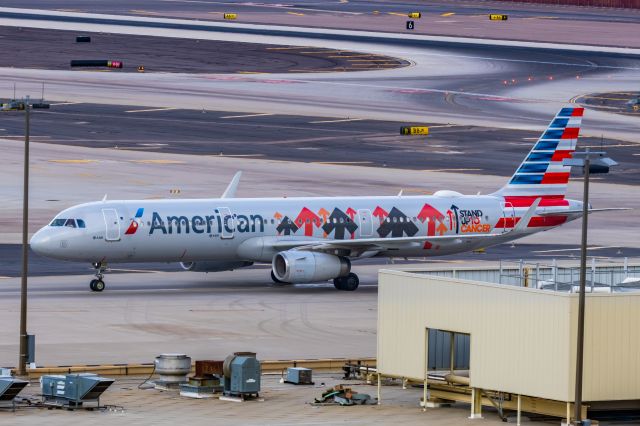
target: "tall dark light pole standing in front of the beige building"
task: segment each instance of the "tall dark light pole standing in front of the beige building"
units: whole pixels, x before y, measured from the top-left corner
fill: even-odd
[[[592,161],[593,158],[593,161]],[[576,347],[576,389],[574,402],[574,425],[582,425],[582,377],[584,370],[584,312],[585,287],[587,283],[587,229],[589,223],[589,175],[608,173],[609,167],[618,163],[606,157],[605,152],[574,152],[571,159],[562,162],[565,166],[582,167],[584,187],[582,194],[582,242],[580,246],[580,293],[578,295],[578,338]],[[593,169],[593,170],[592,170]]]

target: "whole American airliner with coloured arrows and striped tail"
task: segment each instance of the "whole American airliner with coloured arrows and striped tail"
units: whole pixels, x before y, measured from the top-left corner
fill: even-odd
[[[93,291],[107,262],[180,262],[215,272],[271,263],[277,283],[333,280],[358,288],[351,261],[441,256],[546,231],[582,215],[565,198],[583,108],[562,108],[509,182],[489,195],[128,200],[62,211],[31,238],[38,254],[91,262]]]

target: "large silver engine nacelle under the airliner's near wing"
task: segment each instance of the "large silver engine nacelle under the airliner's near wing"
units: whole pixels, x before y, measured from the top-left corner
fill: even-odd
[[[287,250],[273,257],[271,268],[280,281],[310,283],[349,275],[351,262],[332,254]]]

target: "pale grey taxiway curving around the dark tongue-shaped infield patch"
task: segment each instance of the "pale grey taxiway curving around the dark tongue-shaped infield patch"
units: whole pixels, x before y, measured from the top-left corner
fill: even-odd
[[[150,22],[149,19],[145,22]],[[234,33],[140,26],[10,19],[0,19],[0,23],[203,40],[238,38]],[[217,28],[220,31],[222,27]],[[264,31],[278,33],[275,29]],[[0,69],[0,87],[4,88],[0,95],[11,96],[11,88],[16,83],[19,95],[37,96],[41,82],[46,81],[47,96],[54,100],[90,103],[99,98],[101,103],[147,107],[195,106],[225,111],[394,121],[427,118],[443,124],[539,129],[548,122],[550,115],[573,98],[584,93],[629,90],[640,73],[636,57],[606,52],[523,49],[508,45],[472,47],[445,42],[416,46],[410,44],[409,38],[382,37],[376,43],[366,43],[349,41],[350,37],[361,40],[355,35],[345,35],[343,40],[321,40],[251,34],[242,35],[242,40],[389,55],[408,60],[413,66],[360,73],[252,76],[134,75],[4,68]],[[589,111],[583,134],[637,142],[636,130],[635,117]]]

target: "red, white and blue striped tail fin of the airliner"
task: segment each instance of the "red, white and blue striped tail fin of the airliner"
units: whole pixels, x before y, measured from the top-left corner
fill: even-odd
[[[540,198],[540,206],[564,206],[570,166],[562,160],[571,158],[576,149],[584,108],[562,108],[542,133],[509,183],[493,195],[503,196],[513,207],[530,206]]]

